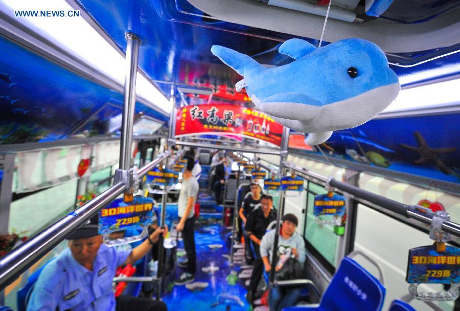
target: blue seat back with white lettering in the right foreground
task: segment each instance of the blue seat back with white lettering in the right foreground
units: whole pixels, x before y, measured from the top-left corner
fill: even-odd
[[[385,287],[356,261],[343,258],[319,305],[298,305],[283,311],[380,311],[385,298]]]

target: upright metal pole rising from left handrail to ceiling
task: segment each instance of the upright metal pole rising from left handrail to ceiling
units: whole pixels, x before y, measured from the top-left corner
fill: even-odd
[[[120,169],[128,170],[131,164],[132,128],[136,104],[136,74],[141,40],[131,33],[126,34],[126,76],[123,97],[123,114],[120,136]]]

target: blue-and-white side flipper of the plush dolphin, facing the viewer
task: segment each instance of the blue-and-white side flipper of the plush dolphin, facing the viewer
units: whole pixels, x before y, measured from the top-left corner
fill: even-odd
[[[259,105],[264,113],[289,120],[298,120],[299,116],[307,116],[307,120],[315,117],[322,104],[302,93],[279,93],[262,100]],[[310,111],[309,111],[310,110]]]

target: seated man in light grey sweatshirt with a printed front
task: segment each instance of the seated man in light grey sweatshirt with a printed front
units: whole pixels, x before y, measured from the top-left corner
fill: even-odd
[[[304,263],[305,261],[305,241],[304,238],[295,232],[298,220],[293,214],[286,214],[283,216],[283,224],[280,229],[280,238],[278,240],[278,258],[279,262],[284,262],[287,258],[285,256],[293,256],[295,259]],[[260,255],[265,265],[265,271],[271,270],[271,258],[273,254],[273,244],[275,238],[275,231],[267,232],[260,243]],[[275,268],[278,271],[281,267],[277,265]],[[285,307],[294,305],[300,296],[300,288],[289,287],[283,289],[279,286],[273,286],[270,289],[268,302],[270,311],[279,311]]]

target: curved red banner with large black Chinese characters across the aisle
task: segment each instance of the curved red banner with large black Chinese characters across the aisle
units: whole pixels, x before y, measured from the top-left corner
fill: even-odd
[[[280,146],[283,125],[246,107],[205,104],[183,107],[176,116],[176,136],[229,134],[259,139]]]

